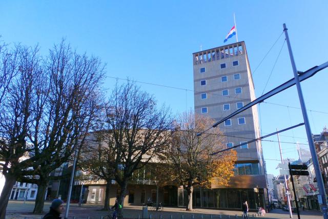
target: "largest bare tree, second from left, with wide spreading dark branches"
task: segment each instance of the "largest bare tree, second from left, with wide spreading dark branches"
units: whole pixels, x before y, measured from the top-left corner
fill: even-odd
[[[50,50],[42,65],[37,49],[25,50],[29,53],[19,54],[23,61],[16,76],[24,77],[22,82],[12,81],[9,93],[13,101],[7,98],[8,104],[4,106],[9,120],[2,120],[0,127],[4,135],[0,153],[5,161],[4,172],[14,175],[13,180],[8,181],[9,192],[12,188],[9,183],[15,180],[37,184],[33,212],[41,213],[50,173],[72,159],[73,151],[85,141],[93,118],[100,110],[99,85],[104,66],[97,57],[72,51],[65,41]],[[17,137],[10,136],[18,128]],[[26,155],[23,161],[19,160],[22,155]],[[17,165],[13,165],[12,157]],[[0,200],[8,203],[8,198],[8,194],[2,194]],[[1,212],[5,205],[0,202]]]

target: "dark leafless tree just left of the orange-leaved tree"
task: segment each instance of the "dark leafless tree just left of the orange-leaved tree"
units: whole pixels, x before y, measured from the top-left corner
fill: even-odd
[[[128,181],[135,170],[154,159],[167,144],[171,128],[168,108],[157,109],[154,97],[129,82],[112,91],[107,106],[107,129],[113,135],[114,176],[120,186],[118,203],[124,204]],[[122,217],[121,209],[118,212]]]

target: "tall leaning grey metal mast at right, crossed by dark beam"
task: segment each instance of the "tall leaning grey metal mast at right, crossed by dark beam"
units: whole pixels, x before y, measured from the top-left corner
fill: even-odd
[[[304,125],[305,125],[305,130],[306,130],[306,136],[308,137],[308,142],[309,142],[309,146],[310,146],[310,152],[311,152],[311,156],[312,156],[313,167],[314,167],[314,171],[315,171],[316,178],[317,178],[317,184],[318,184],[318,187],[319,187],[319,193],[320,193],[321,198],[322,198],[321,210],[322,210],[322,213],[323,213],[323,218],[328,219],[327,197],[326,197],[326,193],[325,193],[325,190],[324,190],[322,175],[321,175],[320,168],[319,168],[318,156],[317,156],[317,152],[316,152],[314,142],[313,142],[313,138],[312,138],[312,132],[311,132],[311,127],[310,127],[310,123],[309,123],[309,117],[308,117],[308,113],[306,112],[306,107],[305,107],[305,103],[304,103],[302,88],[301,88],[301,84],[299,82],[298,73],[297,73],[297,69],[296,69],[296,65],[295,65],[295,61],[294,61],[292,47],[291,47],[291,44],[290,44],[290,41],[289,41],[289,36],[288,36],[286,24],[283,24],[283,31],[285,32],[288,51],[289,51],[289,55],[290,55],[290,58],[291,58],[291,63],[292,63],[292,67],[293,67],[293,72],[294,72],[294,77],[295,77],[295,83],[296,83],[296,87],[297,87],[299,102],[300,102],[301,109],[302,109],[302,114],[303,114],[303,120],[304,120]]]

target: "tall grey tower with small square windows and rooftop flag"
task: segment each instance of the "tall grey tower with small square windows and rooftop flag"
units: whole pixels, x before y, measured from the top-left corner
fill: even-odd
[[[196,114],[219,121],[255,99],[244,42],[193,53],[193,66]],[[227,148],[260,137],[257,106],[244,110],[218,127],[227,136],[224,140]],[[261,141],[241,145],[235,150],[238,161],[229,185],[212,184],[212,188],[218,189],[214,192],[221,194],[220,201],[217,201],[220,203],[214,203],[214,206],[238,209],[243,201],[248,201],[251,209],[256,209],[256,204],[265,206],[267,183]],[[258,195],[254,194],[256,187],[260,195],[257,199]],[[212,200],[210,193],[201,193],[202,198]],[[196,201],[194,205],[204,207],[202,202]]]

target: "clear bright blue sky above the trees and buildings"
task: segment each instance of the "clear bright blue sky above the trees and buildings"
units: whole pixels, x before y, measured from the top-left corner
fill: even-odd
[[[2,1],[0,34],[8,43],[39,43],[42,53],[66,37],[79,52],[94,54],[107,63],[107,75],[161,85],[193,89],[192,53],[223,45],[236,14],[239,41],[245,41],[252,71],[282,32],[289,28],[298,70],[328,61],[327,1]],[[254,73],[260,96],[282,46],[282,36]],[[235,38],[227,43],[235,42]],[[271,88],[292,78],[284,45],[270,82]],[[327,121],[328,69],[302,82],[313,133]],[[111,88],[108,78],[105,87]],[[193,93],[152,85],[140,86],[153,93],[173,112],[193,107]],[[268,102],[299,107],[295,88]],[[262,132],[271,133],[302,121],[299,109],[261,104]],[[283,133],[281,141],[306,144],[305,129]],[[293,137],[294,136],[294,137]],[[276,136],[269,138],[276,141]],[[302,146],[308,147],[308,146]],[[297,158],[295,144],[282,143],[283,156]],[[277,143],[263,142],[268,173],[277,174]]]

